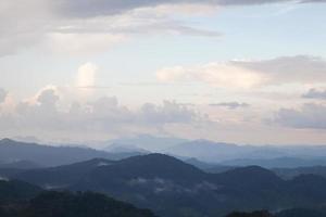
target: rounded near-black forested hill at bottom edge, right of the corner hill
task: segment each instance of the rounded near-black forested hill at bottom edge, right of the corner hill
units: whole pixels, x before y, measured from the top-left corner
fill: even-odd
[[[148,209],[91,192],[43,192],[22,213],[26,217],[154,217]]]

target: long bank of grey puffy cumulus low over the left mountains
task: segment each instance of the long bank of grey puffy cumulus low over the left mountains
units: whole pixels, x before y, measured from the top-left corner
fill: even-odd
[[[115,97],[101,98],[88,104],[72,103],[68,111],[57,106],[59,97],[53,91],[40,93],[37,104],[20,103],[13,114],[1,115],[0,128],[23,131],[65,133],[129,133],[161,130],[168,124],[200,122],[201,115],[176,102],[164,101],[161,105],[146,103],[130,110],[120,105]],[[145,131],[141,131],[145,130]]]

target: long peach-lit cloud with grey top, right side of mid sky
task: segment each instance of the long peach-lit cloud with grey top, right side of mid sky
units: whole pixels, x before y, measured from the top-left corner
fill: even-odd
[[[326,82],[326,61],[316,56],[281,56],[261,61],[229,61],[195,66],[161,68],[163,82],[204,82],[223,88],[254,88],[277,85]]]

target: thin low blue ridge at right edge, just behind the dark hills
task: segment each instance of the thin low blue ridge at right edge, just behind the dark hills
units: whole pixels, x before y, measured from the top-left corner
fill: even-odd
[[[277,158],[237,158],[224,161],[222,165],[228,166],[250,166],[258,165],[265,168],[296,168],[314,165],[326,165],[326,158],[298,158],[298,157],[277,157]]]

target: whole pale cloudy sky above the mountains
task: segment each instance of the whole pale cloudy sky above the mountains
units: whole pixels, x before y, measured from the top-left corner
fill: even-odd
[[[0,138],[326,144],[325,0],[2,0]]]

